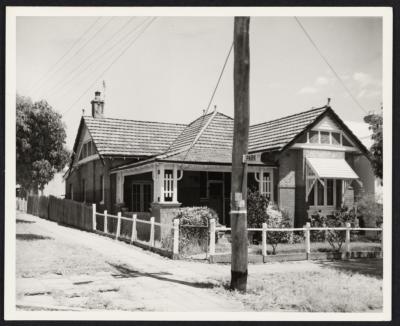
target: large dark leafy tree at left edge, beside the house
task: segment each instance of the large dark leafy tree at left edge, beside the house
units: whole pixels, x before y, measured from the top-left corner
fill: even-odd
[[[25,193],[36,193],[69,160],[65,125],[44,100],[32,103],[17,95],[16,104],[17,183]]]

